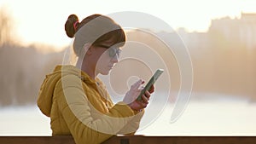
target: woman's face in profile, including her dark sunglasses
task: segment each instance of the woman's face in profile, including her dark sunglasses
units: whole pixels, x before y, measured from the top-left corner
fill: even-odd
[[[102,43],[93,46],[97,51],[98,59],[96,61],[96,74],[108,75],[115,63],[119,62],[120,49],[112,47],[111,43]]]

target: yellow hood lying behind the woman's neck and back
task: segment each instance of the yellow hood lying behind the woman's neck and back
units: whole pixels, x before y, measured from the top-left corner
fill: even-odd
[[[90,76],[75,66],[55,66],[54,72],[46,75],[39,90],[38,107],[44,115],[50,116],[55,85],[61,80],[61,77],[69,74],[78,76],[86,84],[96,84],[96,80],[90,78]]]

